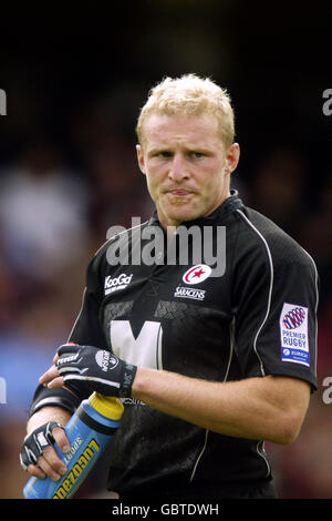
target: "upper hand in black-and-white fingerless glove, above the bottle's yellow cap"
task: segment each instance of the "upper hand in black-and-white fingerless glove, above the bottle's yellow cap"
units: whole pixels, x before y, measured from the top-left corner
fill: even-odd
[[[40,379],[49,388],[65,385],[69,389],[87,389],[105,396],[132,396],[137,367],[110,351],[93,346],[64,344],[58,349],[54,364]]]

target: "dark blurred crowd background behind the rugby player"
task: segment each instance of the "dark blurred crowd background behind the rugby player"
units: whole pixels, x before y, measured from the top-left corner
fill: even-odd
[[[317,263],[319,390],[298,440],[267,451],[281,498],[332,498],[332,405],[323,399],[332,377],[328,17],[319,4],[268,11],[217,0],[127,1],[80,14],[2,22],[0,498],[22,498],[29,405],[80,310],[87,262],[110,226],[153,211],[135,157],[139,108],[163,76],[186,72],[231,95],[241,146],[234,187]],[[107,497],[105,476],[98,463],[80,497]]]

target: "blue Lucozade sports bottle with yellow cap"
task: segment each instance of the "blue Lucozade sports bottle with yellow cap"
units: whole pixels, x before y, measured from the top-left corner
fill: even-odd
[[[58,443],[53,446],[68,472],[59,481],[32,477],[23,489],[24,498],[72,498],[107,447],[123,411],[124,407],[118,398],[93,392],[89,399],[83,400],[65,426],[70,452],[63,453]]]

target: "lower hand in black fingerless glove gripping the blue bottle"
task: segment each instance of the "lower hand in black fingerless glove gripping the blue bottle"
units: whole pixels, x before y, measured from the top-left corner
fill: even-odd
[[[61,423],[48,421],[34,429],[25,437],[20,453],[22,469],[37,478],[44,479],[48,476],[58,481],[68,468],[52,447],[55,442],[63,452],[70,451],[70,443]]]

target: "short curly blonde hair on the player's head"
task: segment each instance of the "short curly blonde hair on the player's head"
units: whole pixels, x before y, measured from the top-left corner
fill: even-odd
[[[200,115],[214,114],[217,118],[221,140],[226,150],[235,139],[235,114],[226,89],[221,89],[208,78],[184,74],[180,78],[165,78],[148,93],[142,108],[136,134],[143,144],[144,123],[152,113],[175,115],[177,113]]]

